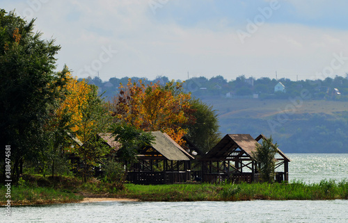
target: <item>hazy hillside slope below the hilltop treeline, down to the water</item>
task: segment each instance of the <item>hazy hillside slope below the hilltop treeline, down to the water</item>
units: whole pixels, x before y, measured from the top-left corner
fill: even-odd
[[[221,133],[272,135],[287,153],[348,153],[348,103],[203,97],[219,113]]]

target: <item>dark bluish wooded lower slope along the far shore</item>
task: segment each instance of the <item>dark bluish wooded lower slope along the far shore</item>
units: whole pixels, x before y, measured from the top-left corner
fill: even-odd
[[[338,116],[319,113],[292,115],[284,124],[274,126],[273,131],[269,128],[269,120],[276,121],[276,117],[226,118],[222,120],[221,131],[272,135],[285,154],[345,154],[348,152],[348,113]]]

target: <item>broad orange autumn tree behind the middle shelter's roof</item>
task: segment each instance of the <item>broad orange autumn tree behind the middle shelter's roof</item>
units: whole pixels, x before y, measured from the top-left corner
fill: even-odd
[[[189,99],[191,95],[182,91],[181,83],[145,85],[129,79],[113,99],[113,117],[143,131],[163,131],[182,144],[187,133],[184,124],[189,122]]]

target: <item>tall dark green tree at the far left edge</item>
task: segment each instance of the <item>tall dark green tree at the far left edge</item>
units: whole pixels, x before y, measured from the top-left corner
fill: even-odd
[[[24,160],[45,150],[49,107],[63,85],[54,73],[61,47],[34,33],[34,21],[0,9],[0,138],[11,145],[17,176]]]

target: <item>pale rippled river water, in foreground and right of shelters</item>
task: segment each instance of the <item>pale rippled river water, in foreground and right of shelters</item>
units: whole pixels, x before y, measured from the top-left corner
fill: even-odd
[[[348,154],[288,156],[290,181],[348,178]],[[348,200],[107,201],[13,207],[11,217],[2,216],[0,222],[348,222]]]

